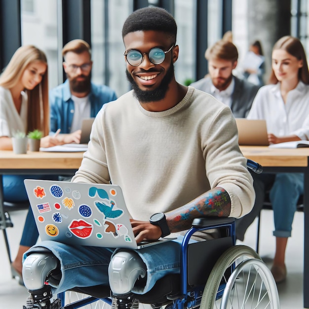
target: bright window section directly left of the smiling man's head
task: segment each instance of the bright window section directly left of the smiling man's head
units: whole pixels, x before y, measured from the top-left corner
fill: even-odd
[[[121,30],[132,7],[131,0],[91,0],[92,79],[108,84],[117,96],[129,90]]]

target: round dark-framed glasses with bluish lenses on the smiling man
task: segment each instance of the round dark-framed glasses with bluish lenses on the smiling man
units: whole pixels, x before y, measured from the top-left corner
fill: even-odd
[[[175,44],[173,44],[167,51],[164,51],[159,47],[154,47],[148,53],[142,53],[137,49],[131,49],[126,53],[125,50],[123,55],[125,56],[127,63],[132,67],[137,67],[143,62],[144,54],[148,55],[149,60],[153,64],[161,64],[165,60],[165,54],[171,51],[174,46]]]

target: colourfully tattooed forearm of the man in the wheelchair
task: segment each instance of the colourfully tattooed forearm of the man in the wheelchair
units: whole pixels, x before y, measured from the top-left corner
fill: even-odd
[[[215,188],[165,215],[170,231],[179,232],[191,228],[194,218],[228,217],[230,213],[230,195],[222,188]]]

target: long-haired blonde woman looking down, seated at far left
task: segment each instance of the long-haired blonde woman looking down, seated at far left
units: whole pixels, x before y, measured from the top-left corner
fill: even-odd
[[[0,150],[12,150],[14,132],[39,129],[44,133],[41,147],[59,145],[61,142],[49,132],[48,72],[47,59],[41,50],[25,45],[16,50],[0,76]],[[5,201],[28,200],[23,180],[25,178],[52,179],[47,175],[4,175],[3,195]],[[27,220],[33,217],[28,212]],[[33,218],[31,218],[33,219]],[[12,263],[12,274],[21,281],[22,253],[36,243],[38,232],[28,225],[21,239],[20,253]],[[20,261],[19,261],[20,260]],[[22,282],[22,281],[21,281]]]

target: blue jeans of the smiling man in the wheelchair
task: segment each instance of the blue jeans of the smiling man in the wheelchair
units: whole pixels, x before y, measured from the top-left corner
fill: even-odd
[[[145,294],[155,282],[168,273],[180,272],[183,236],[165,243],[135,250],[147,266],[145,287],[134,287],[132,292]],[[194,241],[194,240],[193,240]],[[62,277],[52,288],[53,295],[74,287],[109,285],[108,266],[115,249],[90,246],[70,246],[56,241],[42,241],[24,254],[38,252],[40,247],[50,250],[60,261]]]

